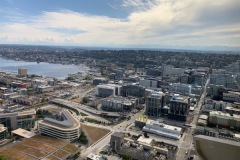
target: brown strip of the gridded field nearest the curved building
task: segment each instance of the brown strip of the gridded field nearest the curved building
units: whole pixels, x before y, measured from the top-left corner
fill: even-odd
[[[48,143],[50,145],[57,146],[57,147],[62,147],[63,145],[66,144],[66,142],[63,142],[54,138],[46,137],[46,136],[40,136],[40,135],[36,135],[32,137],[32,139],[40,142]]]

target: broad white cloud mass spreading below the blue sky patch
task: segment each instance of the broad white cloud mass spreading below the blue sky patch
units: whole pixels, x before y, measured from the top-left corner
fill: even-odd
[[[4,43],[3,37],[8,37],[6,43],[240,46],[239,16],[231,14],[232,8],[240,10],[238,4],[238,0],[124,0],[122,7],[133,9],[125,19],[70,10],[43,12],[27,17],[27,22],[0,23],[0,42]],[[228,18],[228,23],[217,19],[218,16]],[[75,34],[64,30],[73,30]]]

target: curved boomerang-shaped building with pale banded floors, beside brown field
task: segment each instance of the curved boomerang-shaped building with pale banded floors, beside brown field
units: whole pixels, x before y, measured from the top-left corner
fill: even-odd
[[[38,130],[43,135],[54,138],[73,141],[80,136],[80,123],[72,114],[64,110],[61,112],[63,121],[52,118],[44,118],[38,121]]]

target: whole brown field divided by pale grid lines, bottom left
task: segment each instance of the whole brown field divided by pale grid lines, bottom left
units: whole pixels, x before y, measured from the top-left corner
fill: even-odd
[[[0,153],[8,156],[11,160],[35,160],[45,157],[51,160],[59,160],[78,150],[78,147],[64,141],[37,135],[3,148]]]

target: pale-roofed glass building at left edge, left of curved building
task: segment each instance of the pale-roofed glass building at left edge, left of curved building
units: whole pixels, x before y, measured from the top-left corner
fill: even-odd
[[[7,128],[11,127],[12,129],[31,129],[35,125],[35,117],[35,110],[15,113],[1,113],[0,124],[3,124]]]

